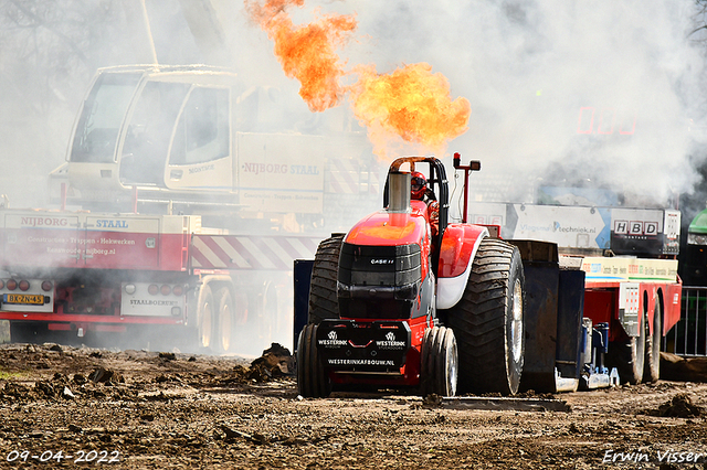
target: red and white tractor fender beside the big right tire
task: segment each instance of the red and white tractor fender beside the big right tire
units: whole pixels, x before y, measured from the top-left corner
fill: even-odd
[[[462,299],[478,245],[487,236],[484,226],[447,225],[440,247],[437,309],[450,309]]]

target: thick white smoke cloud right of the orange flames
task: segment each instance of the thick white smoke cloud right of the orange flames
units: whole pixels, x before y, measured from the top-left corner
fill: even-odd
[[[357,13],[350,65],[428,62],[472,104],[449,151],[486,173],[689,192],[701,143],[704,55],[690,1],[308,2]],[[692,121],[690,121],[692,120]],[[634,128],[635,122],[635,128]]]

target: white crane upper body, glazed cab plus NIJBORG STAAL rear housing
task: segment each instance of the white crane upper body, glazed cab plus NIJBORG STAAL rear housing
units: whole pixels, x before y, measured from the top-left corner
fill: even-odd
[[[53,202],[261,232],[334,225],[350,200],[373,207],[381,169],[365,132],[281,98],[219,67],[102,68],[51,175]]]

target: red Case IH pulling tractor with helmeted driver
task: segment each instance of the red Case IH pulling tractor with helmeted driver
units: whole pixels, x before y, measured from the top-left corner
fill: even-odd
[[[467,174],[481,168],[458,162],[455,156]],[[428,202],[411,200],[418,167],[428,167],[439,221]],[[449,201],[440,160],[399,158],[384,209],[321,242],[297,344],[300,395],[326,397],[346,384],[441,396],[518,391],[526,337],[520,253],[486,226],[450,223]]]

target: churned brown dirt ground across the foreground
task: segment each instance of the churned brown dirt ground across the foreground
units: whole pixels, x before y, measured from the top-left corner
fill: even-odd
[[[303,399],[292,357],[273,353],[2,344],[0,468],[707,468],[707,384],[556,395],[569,412]]]

